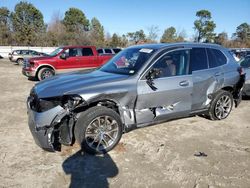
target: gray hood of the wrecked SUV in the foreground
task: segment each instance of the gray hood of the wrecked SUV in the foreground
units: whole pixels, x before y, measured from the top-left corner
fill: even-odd
[[[69,74],[56,75],[35,85],[39,98],[56,97],[67,94],[82,94],[93,88],[105,88],[114,82],[128,78],[128,75],[95,71],[79,71]],[[115,83],[114,83],[115,84]],[[101,89],[101,90],[102,90]]]

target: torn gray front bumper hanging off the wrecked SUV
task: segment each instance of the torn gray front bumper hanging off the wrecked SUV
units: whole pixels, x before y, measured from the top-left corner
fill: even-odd
[[[36,112],[31,109],[29,99],[27,109],[29,129],[36,144],[47,151],[60,150],[60,144],[55,137],[54,125],[67,115],[67,111],[58,105],[46,112]]]

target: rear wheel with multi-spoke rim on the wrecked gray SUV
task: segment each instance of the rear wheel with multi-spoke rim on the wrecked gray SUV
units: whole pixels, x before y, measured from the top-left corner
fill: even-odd
[[[224,99],[226,100],[226,102],[223,102]],[[216,93],[213,101],[211,102],[210,109],[208,112],[208,118],[211,120],[225,119],[230,114],[232,107],[233,107],[232,94],[229,91],[219,90]]]

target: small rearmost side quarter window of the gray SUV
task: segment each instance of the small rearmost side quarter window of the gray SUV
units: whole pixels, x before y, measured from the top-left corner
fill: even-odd
[[[207,48],[209,68],[218,67],[227,63],[225,55],[216,49]]]

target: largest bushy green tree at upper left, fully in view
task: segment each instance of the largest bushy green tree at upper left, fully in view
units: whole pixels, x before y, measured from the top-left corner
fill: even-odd
[[[46,27],[42,13],[31,3],[21,1],[11,14],[14,37],[17,45],[39,45]]]

